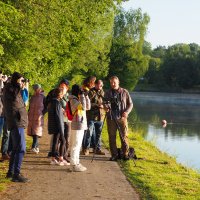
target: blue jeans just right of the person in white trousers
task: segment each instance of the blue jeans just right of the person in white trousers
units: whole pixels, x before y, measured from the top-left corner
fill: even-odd
[[[103,122],[102,121],[88,121],[88,130],[84,134],[83,138],[83,148],[90,148],[91,138],[94,139],[93,148],[97,148],[97,150],[101,149],[101,130],[102,130]]]

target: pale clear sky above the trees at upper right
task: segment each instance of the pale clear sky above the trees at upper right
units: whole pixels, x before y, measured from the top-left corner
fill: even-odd
[[[200,0],[129,0],[122,7],[141,8],[149,15],[145,40],[152,48],[177,43],[200,45]]]

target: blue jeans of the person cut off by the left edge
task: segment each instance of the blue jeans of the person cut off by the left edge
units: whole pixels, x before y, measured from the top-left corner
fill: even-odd
[[[3,125],[3,137],[1,143],[1,153],[2,155],[10,154],[12,149],[12,141],[10,140],[10,131],[7,129],[6,119]]]

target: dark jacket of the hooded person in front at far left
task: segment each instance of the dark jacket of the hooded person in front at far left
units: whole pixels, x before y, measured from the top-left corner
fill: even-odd
[[[9,130],[27,127],[28,115],[20,89],[11,83],[7,83],[4,87],[3,108]]]

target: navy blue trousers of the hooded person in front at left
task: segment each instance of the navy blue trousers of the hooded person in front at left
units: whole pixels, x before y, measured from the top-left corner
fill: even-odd
[[[24,128],[13,128],[10,130],[12,141],[12,153],[10,156],[8,173],[20,174],[20,169],[26,151]]]

